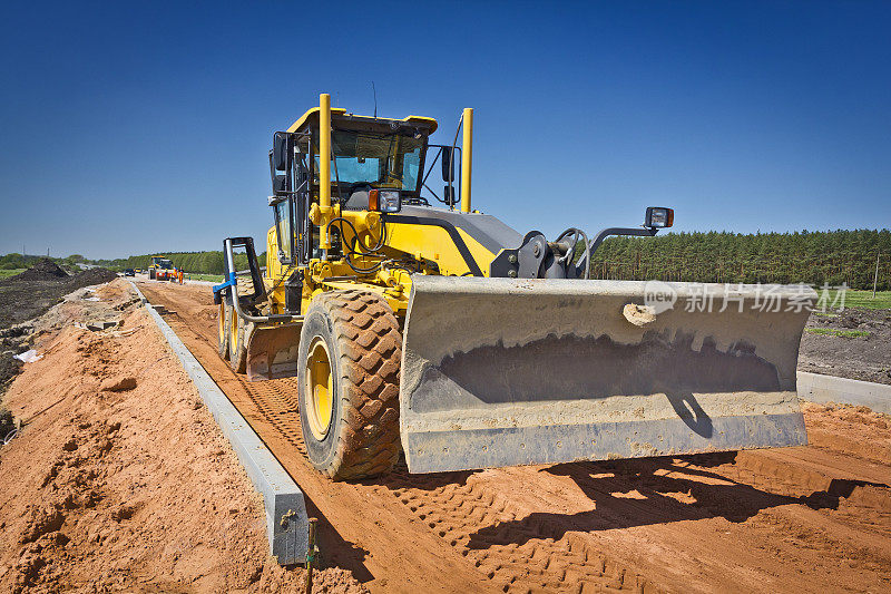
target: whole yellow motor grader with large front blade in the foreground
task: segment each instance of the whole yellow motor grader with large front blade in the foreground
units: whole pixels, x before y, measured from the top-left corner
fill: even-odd
[[[434,145],[431,118],[322,95],[273,137],[265,273],[251,237],[224,242],[219,354],[251,380],[298,378],[319,470],[375,476],[400,451],[432,473],[806,442],[812,289],[589,280],[606,237],[653,236],[673,211],[590,238],[519,233],[471,210],[472,116],[460,146]]]

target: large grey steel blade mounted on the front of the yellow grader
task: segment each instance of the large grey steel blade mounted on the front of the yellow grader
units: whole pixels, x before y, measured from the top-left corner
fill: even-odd
[[[411,473],[807,442],[795,366],[809,288],[412,281]]]

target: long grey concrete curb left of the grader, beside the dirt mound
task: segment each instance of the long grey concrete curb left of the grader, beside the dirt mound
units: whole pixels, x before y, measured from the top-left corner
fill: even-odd
[[[254,484],[254,488],[263,496],[270,552],[281,565],[305,562],[309,549],[309,522],[303,491],[229,402],[223,390],[210,379],[198,360],[179,340],[179,337],[148,303],[143,292],[133,281],[130,284],[179,358],[183,369],[192,378],[223,435],[232,444],[251,483]]]

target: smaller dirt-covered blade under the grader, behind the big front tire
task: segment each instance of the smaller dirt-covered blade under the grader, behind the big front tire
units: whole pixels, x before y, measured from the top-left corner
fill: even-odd
[[[249,381],[293,378],[297,374],[297,344],[302,323],[251,324],[247,335]]]

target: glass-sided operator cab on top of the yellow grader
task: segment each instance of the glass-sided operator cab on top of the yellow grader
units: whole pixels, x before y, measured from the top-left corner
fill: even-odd
[[[437,129],[433,118],[378,118],[332,108],[331,127],[332,204],[380,213],[398,213],[403,205],[430,206],[431,198],[450,208],[456,204],[453,181],[460,163],[452,156],[460,158],[460,148],[429,143]],[[317,107],[273,136],[270,206],[276,234],[284,240],[278,246],[283,263],[305,263],[320,255],[319,230],[311,221],[311,208],[319,203],[319,146]],[[441,194],[425,183],[438,163],[446,182]]]

